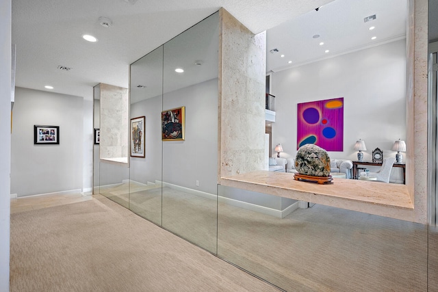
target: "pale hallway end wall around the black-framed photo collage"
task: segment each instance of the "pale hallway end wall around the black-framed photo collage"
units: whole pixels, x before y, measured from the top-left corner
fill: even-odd
[[[27,88],[16,88],[15,94],[11,193],[81,190],[83,165],[90,163],[83,161],[83,98]],[[60,144],[34,145],[35,124],[59,126]]]

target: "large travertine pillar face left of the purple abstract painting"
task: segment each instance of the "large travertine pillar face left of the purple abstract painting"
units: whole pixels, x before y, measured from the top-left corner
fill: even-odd
[[[265,161],[266,33],[220,10],[219,178],[262,170]]]

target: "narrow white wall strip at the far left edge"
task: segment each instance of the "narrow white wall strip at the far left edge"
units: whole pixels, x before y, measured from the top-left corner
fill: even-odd
[[[0,0],[0,291],[9,291],[11,0]]]

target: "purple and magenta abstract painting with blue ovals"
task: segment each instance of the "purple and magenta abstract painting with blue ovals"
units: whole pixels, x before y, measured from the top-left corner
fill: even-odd
[[[298,103],[297,149],[315,144],[327,151],[344,150],[344,98]]]

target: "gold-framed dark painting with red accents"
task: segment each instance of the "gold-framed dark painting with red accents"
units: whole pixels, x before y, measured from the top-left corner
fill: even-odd
[[[185,107],[162,111],[162,140],[184,140]]]

